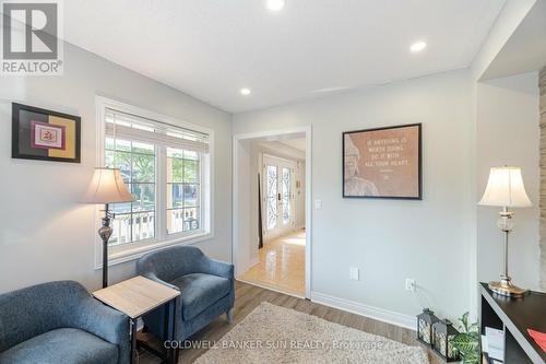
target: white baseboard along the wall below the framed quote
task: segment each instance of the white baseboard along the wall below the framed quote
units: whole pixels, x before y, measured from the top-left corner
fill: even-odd
[[[325,293],[311,292],[311,301],[324,306],[346,310],[352,314],[366,316],[379,321],[396,325],[406,329],[415,330],[417,318],[389,309],[368,306],[358,302],[331,296]]]

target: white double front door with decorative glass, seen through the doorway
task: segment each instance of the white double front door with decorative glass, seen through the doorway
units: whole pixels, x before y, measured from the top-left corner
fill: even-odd
[[[294,227],[294,169],[288,160],[264,155],[265,238],[276,238]]]

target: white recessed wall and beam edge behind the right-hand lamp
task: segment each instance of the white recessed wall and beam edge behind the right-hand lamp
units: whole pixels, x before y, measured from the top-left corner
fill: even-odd
[[[536,202],[539,131],[538,97],[533,90],[537,87],[537,81],[533,80],[532,74],[491,82],[486,80],[498,55],[535,3],[536,0],[507,0],[470,68],[474,138],[472,154],[476,157],[468,173],[474,180],[474,201],[482,197],[489,167],[510,163],[524,168],[527,192]],[[474,206],[470,215],[473,218],[471,232],[474,235],[468,255],[471,282],[497,280],[502,270],[502,237],[495,226],[495,209]],[[534,278],[534,274],[537,274],[535,268],[538,257],[535,256],[534,246],[538,244],[538,216],[534,209],[527,209],[517,211],[515,219],[518,226],[511,236],[511,273],[515,282],[536,289],[538,275]],[[477,313],[478,292],[474,284],[470,286],[470,294],[474,297],[471,301],[472,312]]]

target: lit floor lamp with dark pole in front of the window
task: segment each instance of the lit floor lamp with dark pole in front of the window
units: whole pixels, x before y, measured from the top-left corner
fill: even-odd
[[[103,240],[103,289],[108,286],[108,239],[112,233],[110,220],[116,218],[108,208],[110,203],[131,201],[134,201],[134,197],[127,189],[119,169],[106,167],[95,168],[91,184],[84,195],[83,202],[105,204],[103,226],[98,230],[98,235]]]

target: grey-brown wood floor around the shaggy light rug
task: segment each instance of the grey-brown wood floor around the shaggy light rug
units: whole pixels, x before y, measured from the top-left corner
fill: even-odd
[[[195,343],[200,341],[206,341],[211,342],[212,344],[212,342],[214,342],[215,340],[219,340],[227,331],[235,327],[235,325],[240,322],[263,301],[277,306],[296,309],[309,315],[314,315],[332,322],[337,322],[358,330],[379,334],[399,342],[406,343],[408,345],[419,344],[415,340],[415,331],[242,282],[236,282],[233,324],[227,324],[226,317],[225,315],[223,315],[218,317],[214,322],[205,327],[203,330],[194,334],[191,340]],[[157,344],[157,341],[150,338],[150,336],[147,334],[143,334],[141,336],[141,338],[151,343]],[[193,363],[205,351],[205,349],[182,350],[178,363]],[[436,354],[434,354],[431,351],[428,352],[431,364],[442,363],[438,359],[438,356],[436,356]],[[141,364],[156,364],[159,362],[161,361],[157,357],[147,352],[143,352],[140,357]]]

